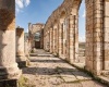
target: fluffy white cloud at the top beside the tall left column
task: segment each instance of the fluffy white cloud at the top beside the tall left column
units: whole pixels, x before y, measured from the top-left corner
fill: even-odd
[[[27,7],[31,0],[15,0],[16,12],[20,12],[23,8]]]

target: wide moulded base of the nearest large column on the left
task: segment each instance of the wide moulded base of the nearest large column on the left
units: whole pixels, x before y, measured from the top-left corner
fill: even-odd
[[[17,67],[17,63],[12,66],[0,66],[0,79],[19,79],[22,71]]]

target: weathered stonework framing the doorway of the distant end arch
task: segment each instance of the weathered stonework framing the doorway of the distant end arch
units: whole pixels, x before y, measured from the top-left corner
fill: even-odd
[[[36,33],[38,33],[40,35],[39,38],[39,48],[44,48],[44,26],[45,24],[43,23],[36,23],[36,24],[28,24],[28,41],[31,44],[31,50],[33,50],[34,48],[36,48],[36,38],[35,35]]]

